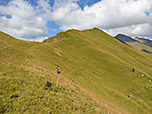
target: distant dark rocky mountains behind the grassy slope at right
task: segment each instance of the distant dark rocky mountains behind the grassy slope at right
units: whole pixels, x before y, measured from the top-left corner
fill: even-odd
[[[152,54],[152,41],[145,38],[132,38],[124,34],[118,34],[115,36],[116,39],[123,43],[129,44],[137,49],[140,49],[146,53]]]

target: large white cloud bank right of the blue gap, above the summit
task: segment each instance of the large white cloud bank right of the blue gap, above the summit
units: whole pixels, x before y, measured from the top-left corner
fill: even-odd
[[[51,17],[63,30],[99,27],[110,33],[151,35],[152,18],[146,14],[152,9],[151,0],[102,0],[83,10],[72,0],[62,1],[56,0]]]

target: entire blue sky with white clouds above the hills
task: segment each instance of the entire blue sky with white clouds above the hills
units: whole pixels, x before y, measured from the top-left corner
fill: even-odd
[[[68,29],[152,38],[151,0],[0,0],[0,30],[43,41]]]

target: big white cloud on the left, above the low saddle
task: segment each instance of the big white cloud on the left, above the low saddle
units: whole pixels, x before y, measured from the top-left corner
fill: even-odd
[[[0,13],[11,15],[0,17],[0,30],[6,31],[17,37],[45,36],[48,34],[47,20],[37,13],[29,2],[12,0],[7,6],[0,6]]]

